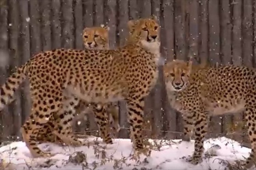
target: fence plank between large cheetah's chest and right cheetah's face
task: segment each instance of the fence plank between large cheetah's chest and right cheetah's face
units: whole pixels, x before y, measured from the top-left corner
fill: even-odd
[[[161,13],[160,13],[160,1],[153,0],[152,1],[152,14],[157,17],[158,24],[160,26],[160,41],[161,41]],[[171,38],[171,37],[169,37]],[[160,50],[161,51],[161,50]],[[152,138],[158,138],[160,134],[160,130],[163,128],[162,127],[162,88],[163,87],[163,73],[162,73],[162,66],[158,67],[159,69],[159,77],[156,83],[155,88],[153,89],[154,93],[154,99],[153,100],[153,120],[151,120],[152,123]]]

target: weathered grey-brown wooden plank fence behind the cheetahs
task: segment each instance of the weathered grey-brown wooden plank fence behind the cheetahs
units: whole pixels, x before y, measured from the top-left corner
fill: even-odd
[[[0,1],[0,84],[13,69],[43,50],[83,49],[82,30],[107,24],[110,47],[124,45],[127,21],[157,16],[161,25],[161,55],[167,60],[187,60],[193,53],[216,63],[255,66],[256,3],[254,0],[1,0]],[[159,68],[160,72],[162,67]],[[31,107],[28,82],[16,93],[0,119],[2,140],[20,136],[19,128]],[[120,126],[127,127],[126,107],[119,102]],[[236,116],[213,117],[212,134],[227,133]],[[179,138],[181,115],[167,103],[163,76],[146,99],[147,135]],[[89,130],[97,126],[90,116]],[[172,131],[172,132],[168,132]],[[238,135],[240,136],[240,135]],[[127,129],[119,137],[128,137]],[[241,137],[241,136],[240,136]]]

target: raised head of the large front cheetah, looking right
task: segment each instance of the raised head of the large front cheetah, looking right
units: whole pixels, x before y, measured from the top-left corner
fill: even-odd
[[[160,47],[160,27],[156,16],[129,20],[128,29],[130,32],[128,41],[141,43],[147,49]]]

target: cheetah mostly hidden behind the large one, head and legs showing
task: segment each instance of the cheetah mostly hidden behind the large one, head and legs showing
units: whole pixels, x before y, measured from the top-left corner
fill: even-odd
[[[83,44],[86,49],[109,49],[109,27],[104,26],[103,24],[100,27],[86,27],[83,30]],[[100,108],[96,107],[96,108]],[[73,123],[75,123],[75,120],[83,119],[84,120],[84,114],[87,113],[95,113],[95,119],[97,124],[99,125],[100,120],[99,119],[105,119],[102,116],[106,116],[105,113],[108,114],[109,118],[109,124],[114,124],[114,127],[112,127],[112,131],[114,133],[119,131],[119,120],[118,120],[118,106],[117,103],[113,104],[110,103],[107,106],[104,106],[102,109],[93,109],[90,107],[90,104],[86,103],[85,101],[80,101],[77,109],[76,109],[76,116],[74,117]],[[82,114],[83,113],[83,114]],[[101,127],[99,127],[101,128]],[[105,128],[105,127],[103,127]],[[108,127],[107,127],[108,128]],[[53,142],[60,145],[63,145],[64,143],[61,141],[59,137],[56,135],[53,135],[52,133],[49,133],[52,131],[51,126],[48,128],[44,128],[45,133],[40,133],[40,135],[37,136],[37,141],[39,143],[43,142]],[[106,134],[109,134],[110,130],[108,129],[102,129],[101,132],[104,131]],[[104,136],[101,136],[104,137]],[[105,143],[112,143],[112,139],[110,136],[106,136],[106,138],[103,138],[103,141]]]

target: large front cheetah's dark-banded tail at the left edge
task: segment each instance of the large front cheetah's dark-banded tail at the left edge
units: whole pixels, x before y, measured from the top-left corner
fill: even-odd
[[[14,93],[19,85],[26,79],[26,65],[19,67],[12,73],[5,83],[0,87],[0,111],[5,105],[11,103],[14,99]]]

